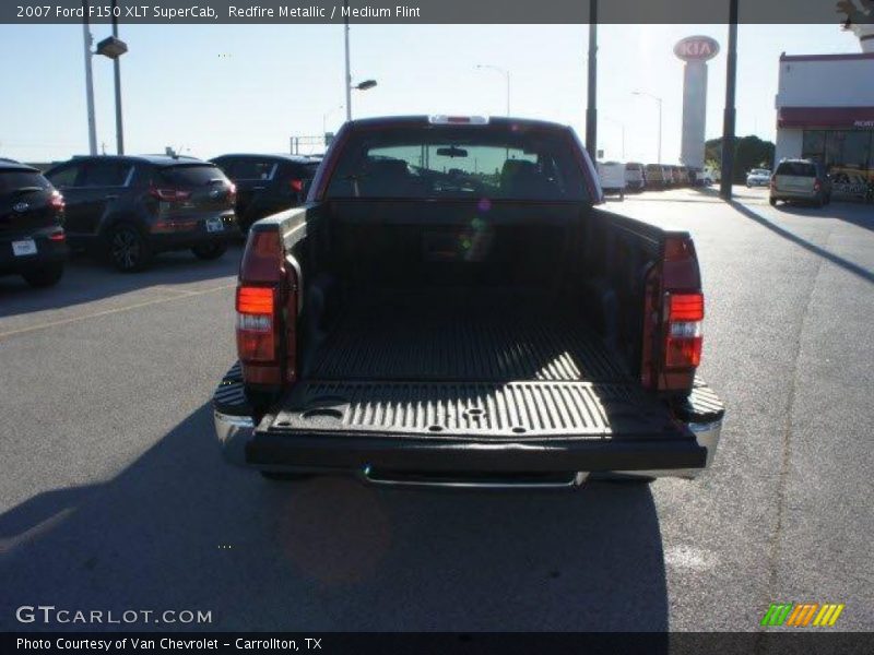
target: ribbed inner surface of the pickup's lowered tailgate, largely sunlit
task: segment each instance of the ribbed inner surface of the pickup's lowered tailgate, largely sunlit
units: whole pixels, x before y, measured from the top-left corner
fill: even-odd
[[[688,438],[633,384],[591,382],[335,382],[296,384],[259,432],[543,441]]]

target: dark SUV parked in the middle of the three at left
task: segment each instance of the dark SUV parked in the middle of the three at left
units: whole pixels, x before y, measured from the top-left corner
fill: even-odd
[[[213,164],[167,155],[73,157],[46,177],[67,201],[71,248],[108,254],[121,271],[157,252],[212,260],[238,235],[234,184]]]

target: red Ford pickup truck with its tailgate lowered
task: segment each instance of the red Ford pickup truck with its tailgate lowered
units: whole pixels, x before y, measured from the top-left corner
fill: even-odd
[[[226,458],[381,485],[695,477],[724,412],[696,377],[695,246],[602,202],[568,127],[347,122],[306,203],[249,233]]]

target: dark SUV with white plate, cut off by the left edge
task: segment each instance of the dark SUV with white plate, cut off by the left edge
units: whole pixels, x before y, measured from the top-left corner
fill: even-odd
[[[39,170],[0,159],[0,275],[56,284],[67,259],[62,226],[63,198]]]

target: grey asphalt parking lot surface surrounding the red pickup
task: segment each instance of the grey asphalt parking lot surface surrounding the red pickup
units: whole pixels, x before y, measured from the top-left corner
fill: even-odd
[[[696,240],[700,372],[728,405],[697,481],[267,481],[224,464],[209,405],[239,246],[127,275],[80,257],[45,290],[0,278],[0,627],[49,604],[222,631],[755,630],[770,603],[828,602],[871,630],[874,214],[736,192],[607,203]]]

